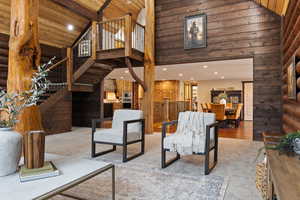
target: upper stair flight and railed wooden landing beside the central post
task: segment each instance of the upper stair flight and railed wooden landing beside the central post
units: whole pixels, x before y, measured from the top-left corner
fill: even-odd
[[[89,51],[85,51],[82,56],[80,49]],[[71,73],[69,90],[93,92],[93,86],[99,84],[113,69],[143,66],[143,49],[144,27],[133,22],[130,15],[93,22],[86,33],[68,49],[69,57],[73,58],[67,67]],[[74,73],[73,69],[76,69]],[[133,70],[130,72],[134,73]]]

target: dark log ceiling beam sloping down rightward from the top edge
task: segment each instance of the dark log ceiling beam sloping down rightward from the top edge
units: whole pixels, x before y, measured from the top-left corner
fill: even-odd
[[[98,18],[97,12],[90,10],[86,7],[83,7],[75,0],[52,0],[52,1],[91,21],[97,20]]]

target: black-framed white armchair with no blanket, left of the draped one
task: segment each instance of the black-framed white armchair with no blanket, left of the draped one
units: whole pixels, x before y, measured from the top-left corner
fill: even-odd
[[[112,128],[97,130],[97,123],[112,120]],[[141,143],[141,152],[127,157],[127,146]],[[108,144],[113,148],[96,153],[96,144]],[[132,160],[142,154],[145,150],[145,120],[140,110],[116,110],[113,119],[92,120],[92,157],[97,157],[116,150],[116,146],[123,147],[123,162]]]

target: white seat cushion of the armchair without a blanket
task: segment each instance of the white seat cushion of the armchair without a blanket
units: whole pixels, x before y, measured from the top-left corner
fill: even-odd
[[[141,132],[128,129],[127,142],[140,140],[141,138]],[[95,142],[123,144],[123,129],[97,129],[93,139]]]

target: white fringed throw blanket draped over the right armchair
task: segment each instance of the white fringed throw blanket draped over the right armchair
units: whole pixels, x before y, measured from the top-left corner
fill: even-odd
[[[180,155],[203,153],[205,145],[204,114],[200,112],[179,113],[176,133],[164,140],[164,147]]]

